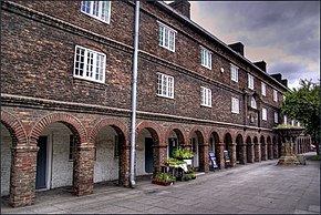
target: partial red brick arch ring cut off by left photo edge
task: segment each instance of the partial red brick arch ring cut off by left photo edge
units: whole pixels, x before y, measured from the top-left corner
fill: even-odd
[[[12,137],[12,146],[27,145],[27,133],[22,123],[7,111],[1,111],[1,123],[9,130]]]

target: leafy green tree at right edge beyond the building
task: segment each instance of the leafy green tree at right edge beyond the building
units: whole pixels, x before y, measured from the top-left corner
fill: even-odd
[[[286,92],[281,112],[303,123],[319,154],[320,145],[320,84],[300,80],[300,88]]]

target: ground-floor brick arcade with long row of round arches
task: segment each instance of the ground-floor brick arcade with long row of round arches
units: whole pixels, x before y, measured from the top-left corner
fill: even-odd
[[[75,195],[93,193],[94,183],[130,181],[130,119],[32,111],[18,116],[1,111],[1,196],[15,206],[34,204],[37,190],[73,186]],[[90,116],[89,116],[90,115]],[[308,151],[310,140],[298,137],[297,153]],[[194,153],[193,165],[209,171],[208,152],[225,167],[280,157],[281,140],[273,133],[234,127],[142,121],[136,126],[135,175],[156,174],[174,149]]]

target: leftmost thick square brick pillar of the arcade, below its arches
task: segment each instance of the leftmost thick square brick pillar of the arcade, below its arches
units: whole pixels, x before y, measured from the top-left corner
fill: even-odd
[[[11,149],[9,204],[12,207],[34,204],[38,150],[37,144]]]

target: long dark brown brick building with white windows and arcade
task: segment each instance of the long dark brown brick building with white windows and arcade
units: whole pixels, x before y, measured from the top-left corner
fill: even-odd
[[[175,9],[174,9],[175,8]],[[1,1],[1,196],[97,182],[128,186],[134,1]],[[189,19],[189,3],[141,2],[135,175],[173,149],[222,168],[280,156],[272,127],[287,81]],[[289,120],[290,122],[290,120]],[[307,151],[306,137],[299,152]]]

